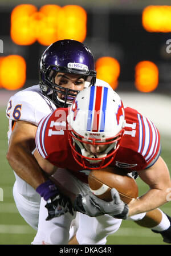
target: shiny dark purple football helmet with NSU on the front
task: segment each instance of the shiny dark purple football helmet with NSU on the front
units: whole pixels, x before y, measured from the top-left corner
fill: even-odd
[[[83,75],[85,84],[93,86],[96,71],[91,51],[76,40],[59,40],[48,46],[39,60],[42,93],[52,100],[56,107],[68,107],[71,103],[68,104],[67,99],[74,100],[79,91],[55,84],[54,78],[58,72]],[[64,100],[59,99],[58,92],[64,94]]]

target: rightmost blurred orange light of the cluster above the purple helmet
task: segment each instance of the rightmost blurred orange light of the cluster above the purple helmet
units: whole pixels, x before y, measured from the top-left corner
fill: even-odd
[[[83,42],[87,34],[87,13],[78,5],[66,5],[58,15],[58,40],[74,39]]]

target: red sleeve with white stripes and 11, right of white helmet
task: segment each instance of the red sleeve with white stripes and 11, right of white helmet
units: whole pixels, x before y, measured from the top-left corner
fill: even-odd
[[[125,108],[125,120],[123,146],[140,155],[143,169],[153,165],[161,152],[160,133],[156,126],[132,108]]]

